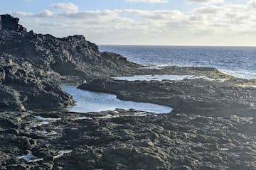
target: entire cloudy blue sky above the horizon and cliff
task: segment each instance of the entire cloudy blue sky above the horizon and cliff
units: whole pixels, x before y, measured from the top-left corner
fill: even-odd
[[[256,45],[256,0],[8,0],[36,33],[112,45]]]

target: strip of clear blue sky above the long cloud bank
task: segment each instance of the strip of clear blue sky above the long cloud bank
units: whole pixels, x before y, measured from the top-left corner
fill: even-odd
[[[149,4],[149,3],[127,3],[125,0],[9,0],[8,3],[1,4],[1,11],[26,11],[36,12],[43,11],[48,8],[50,4],[58,2],[73,2],[79,6],[80,10],[102,10],[102,9],[124,9],[124,8],[137,8],[137,9],[179,9],[181,11],[187,11],[197,4],[188,4],[186,1],[172,0],[169,3],[164,4]],[[14,5],[16,4],[16,5]]]

